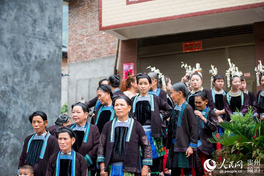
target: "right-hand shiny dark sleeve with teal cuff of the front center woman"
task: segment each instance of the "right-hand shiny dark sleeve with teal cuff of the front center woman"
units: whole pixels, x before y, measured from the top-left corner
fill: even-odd
[[[143,150],[142,153],[142,165],[152,165],[152,149],[148,141],[147,135],[141,124],[138,125],[139,144]]]

